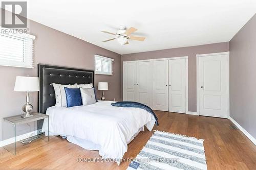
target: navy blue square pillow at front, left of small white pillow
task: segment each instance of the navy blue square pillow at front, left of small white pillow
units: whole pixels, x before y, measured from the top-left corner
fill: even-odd
[[[82,97],[79,88],[64,87],[66,92],[67,107],[81,106]]]

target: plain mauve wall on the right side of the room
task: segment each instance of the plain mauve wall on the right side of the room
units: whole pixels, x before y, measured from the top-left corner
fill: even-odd
[[[230,40],[230,116],[256,138],[256,15]]]

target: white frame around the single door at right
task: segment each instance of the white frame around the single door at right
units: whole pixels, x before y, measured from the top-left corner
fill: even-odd
[[[197,115],[199,114],[199,57],[227,55],[227,117],[229,117],[229,52],[197,54]]]

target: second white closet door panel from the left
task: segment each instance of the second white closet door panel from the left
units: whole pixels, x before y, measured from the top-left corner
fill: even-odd
[[[150,61],[137,62],[136,102],[150,106]]]

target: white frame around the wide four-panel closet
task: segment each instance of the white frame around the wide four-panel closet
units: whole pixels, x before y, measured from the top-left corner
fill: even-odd
[[[175,60],[175,59],[186,59],[186,114],[189,114],[188,111],[188,56],[182,56],[182,57],[169,57],[169,58],[158,58],[158,59],[146,59],[146,60],[133,60],[133,61],[123,61],[123,70],[124,70],[124,63],[131,63],[131,62],[144,62],[144,61],[150,61],[151,62],[151,102],[150,107],[153,108],[153,61],[159,61],[159,60]],[[124,78],[123,78],[123,84],[124,84]],[[123,89],[123,96],[124,96],[124,85],[122,87]]]

